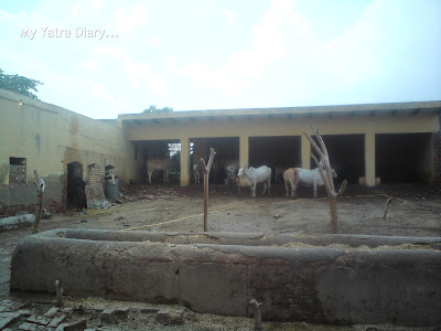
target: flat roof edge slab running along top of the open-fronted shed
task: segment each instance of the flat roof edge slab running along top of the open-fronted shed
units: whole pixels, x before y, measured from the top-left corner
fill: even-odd
[[[336,106],[310,106],[310,107],[275,107],[275,108],[237,108],[237,109],[207,109],[207,110],[182,110],[182,111],[154,111],[141,114],[121,114],[118,118],[122,121],[153,121],[161,119],[179,121],[179,119],[202,119],[225,117],[271,117],[271,116],[311,116],[326,114],[333,115],[354,115],[354,114],[390,114],[410,113],[441,113],[441,100],[417,102],[417,103],[386,103],[386,104],[358,104],[358,105],[336,105]]]

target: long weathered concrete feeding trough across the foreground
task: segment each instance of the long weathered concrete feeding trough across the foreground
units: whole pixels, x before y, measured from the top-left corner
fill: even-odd
[[[329,246],[332,245],[332,246]],[[441,324],[441,238],[55,229],[24,238],[11,291],[181,303],[313,323]]]

